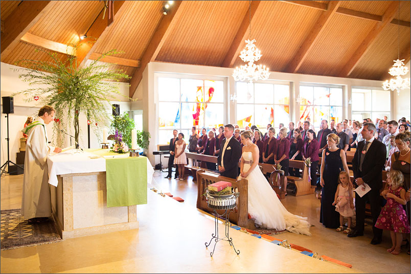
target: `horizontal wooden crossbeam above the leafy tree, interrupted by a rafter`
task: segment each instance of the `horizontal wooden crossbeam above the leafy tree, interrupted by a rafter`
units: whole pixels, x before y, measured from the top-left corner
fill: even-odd
[[[69,54],[69,55],[76,54],[75,49],[71,45],[66,45],[66,44],[62,44],[59,42],[51,41],[51,40],[33,35],[29,32],[26,33],[23,37],[21,37],[21,41],[25,41],[27,43],[36,45],[37,47],[41,47],[44,49],[48,49],[48,50],[63,53],[63,54]],[[100,53],[94,52],[90,55],[89,59],[96,60],[100,56],[101,56]],[[116,56],[106,56],[106,57],[101,58],[100,61],[111,63],[111,64],[132,66],[132,67],[140,66],[140,60],[132,60],[132,59],[126,59],[126,58],[121,58],[121,57],[116,57]]]

